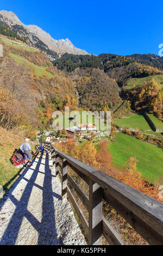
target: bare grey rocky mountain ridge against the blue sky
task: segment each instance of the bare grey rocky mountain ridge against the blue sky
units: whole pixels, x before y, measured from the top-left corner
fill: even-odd
[[[10,27],[19,35],[25,38],[27,37],[29,45],[35,46],[40,50],[42,50],[42,47],[46,48],[44,51],[51,60],[56,59],[57,56],[60,57],[66,52],[72,54],[88,54],[86,51],[75,47],[68,38],[56,40],[39,26],[24,25],[12,11],[1,10],[0,22],[3,23],[4,26]],[[47,50],[55,54],[49,51],[47,52]]]

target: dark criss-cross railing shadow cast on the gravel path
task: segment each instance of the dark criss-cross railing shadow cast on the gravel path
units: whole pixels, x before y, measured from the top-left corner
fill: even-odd
[[[52,175],[51,169],[49,169],[49,159],[48,159],[48,153],[45,153],[45,173],[44,174],[44,180],[43,180],[43,187],[35,184],[37,174],[39,173],[39,168],[41,163],[41,157],[39,158],[35,169],[32,169],[32,167],[27,167],[24,172],[21,174],[21,176],[14,182],[12,187],[10,188],[10,191],[7,192],[7,194],[4,195],[4,199],[1,199],[0,202],[0,209],[6,202],[6,200],[9,198],[12,203],[15,204],[16,208],[11,216],[11,219],[8,223],[7,228],[4,231],[4,234],[2,236],[2,239],[0,241],[0,245],[15,245],[16,239],[18,236],[19,229],[22,224],[23,217],[26,217],[28,222],[32,224],[34,229],[37,230],[39,233],[38,235],[38,244],[39,245],[60,245],[61,242],[57,239],[57,231],[55,229],[55,216],[54,216],[54,202],[53,197],[59,198],[60,195],[56,194],[52,191]],[[32,175],[30,176],[30,179],[24,177],[28,170],[33,170]],[[27,185],[24,188],[24,192],[21,196],[20,200],[17,200],[14,196],[12,196],[12,192],[18,185],[18,183],[22,180],[26,180]],[[33,190],[33,187],[39,187],[42,190],[42,220],[41,223],[32,215],[28,210],[28,202],[30,198],[30,194]],[[8,203],[8,202],[6,202]],[[13,208],[12,208],[13,209]],[[11,209],[11,210],[12,210]]]

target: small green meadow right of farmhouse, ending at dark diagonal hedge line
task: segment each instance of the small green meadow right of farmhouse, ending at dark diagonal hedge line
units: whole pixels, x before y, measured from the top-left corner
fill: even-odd
[[[143,117],[143,115],[131,115],[130,117],[126,118],[121,118],[117,119],[114,121],[115,125],[120,125],[120,126],[126,126],[129,128],[139,128],[139,130],[151,130],[151,127],[147,123],[146,119]]]

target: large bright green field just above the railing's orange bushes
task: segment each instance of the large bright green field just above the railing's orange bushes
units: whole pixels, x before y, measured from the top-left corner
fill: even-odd
[[[116,142],[109,142],[108,150],[111,152],[116,166],[126,165],[129,157],[136,157],[139,160],[137,170],[151,182],[163,174],[163,152],[155,145],[142,142],[123,133],[117,133]]]

